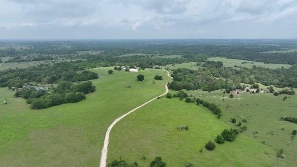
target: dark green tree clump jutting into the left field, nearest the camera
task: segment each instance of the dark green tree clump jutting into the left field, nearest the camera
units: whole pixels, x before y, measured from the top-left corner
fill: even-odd
[[[44,109],[64,103],[76,103],[86,99],[85,94],[95,91],[91,81],[73,84],[72,82],[60,82],[51,93],[46,90],[24,88],[15,92],[15,97],[23,97],[31,109]]]

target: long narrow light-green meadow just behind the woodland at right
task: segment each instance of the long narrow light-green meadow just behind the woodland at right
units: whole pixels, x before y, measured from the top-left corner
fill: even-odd
[[[264,68],[271,68],[271,69],[276,69],[276,68],[289,68],[291,65],[288,64],[265,64],[263,62],[256,62],[256,61],[248,61],[248,60],[240,60],[240,59],[232,59],[232,58],[224,58],[224,57],[210,57],[208,60],[211,61],[222,61],[224,67],[233,67],[234,65],[241,66],[241,67],[247,67],[251,68],[253,65],[255,66],[260,66]],[[252,63],[245,63],[242,64],[242,62],[252,62]]]

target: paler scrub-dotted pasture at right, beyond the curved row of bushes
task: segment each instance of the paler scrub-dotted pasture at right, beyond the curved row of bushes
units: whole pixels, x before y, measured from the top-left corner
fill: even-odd
[[[297,130],[297,124],[288,121],[280,121],[282,116],[297,117],[297,95],[273,96],[267,93],[250,94],[243,93],[234,95],[233,99],[225,95],[223,101],[223,91],[187,91],[199,99],[217,104],[222,109],[221,120],[232,127],[236,124],[231,123],[230,118],[236,118],[237,122],[242,118],[247,119],[247,137],[263,142],[272,148],[275,153],[279,149],[285,150],[285,159],[277,159],[274,166],[295,167],[297,158],[297,138],[292,139],[292,131]],[[283,98],[289,98],[283,101]],[[274,155],[275,156],[275,155]],[[275,157],[276,158],[276,157]]]

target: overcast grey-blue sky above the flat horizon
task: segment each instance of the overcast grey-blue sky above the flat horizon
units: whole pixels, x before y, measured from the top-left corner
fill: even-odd
[[[0,39],[297,38],[297,0],[0,0]]]

